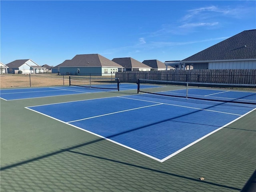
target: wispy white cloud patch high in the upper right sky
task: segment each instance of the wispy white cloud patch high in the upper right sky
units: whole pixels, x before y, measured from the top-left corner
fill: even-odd
[[[148,35],[148,37],[156,37],[166,34],[193,33],[197,28],[220,28],[225,24],[223,17],[239,19],[246,17],[246,14],[253,12],[253,9],[254,8],[252,7],[246,6],[236,6],[231,8],[214,5],[191,9],[187,10],[187,14],[181,16],[179,20],[172,21],[172,23],[169,24],[162,24],[159,30],[144,34]]]

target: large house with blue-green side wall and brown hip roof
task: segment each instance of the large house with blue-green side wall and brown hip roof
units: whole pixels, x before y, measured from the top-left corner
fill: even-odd
[[[122,71],[122,68],[99,54],[82,54],[74,56],[71,60],[65,60],[53,69],[54,73],[58,69],[58,73],[64,75],[109,76]]]

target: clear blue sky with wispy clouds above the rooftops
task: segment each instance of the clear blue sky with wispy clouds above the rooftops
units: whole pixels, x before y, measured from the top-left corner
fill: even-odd
[[[0,1],[0,61],[183,60],[256,29],[256,1]]]

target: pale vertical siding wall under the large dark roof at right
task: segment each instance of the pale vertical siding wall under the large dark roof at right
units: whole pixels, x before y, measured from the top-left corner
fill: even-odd
[[[209,69],[256,69],[256,60],[209,62]]]

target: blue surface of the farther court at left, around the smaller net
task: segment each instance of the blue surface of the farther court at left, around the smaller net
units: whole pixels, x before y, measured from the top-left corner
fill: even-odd
[[[157,87],[157,86],[150,86],[150,85],[142,86],[142,88],[152,88],[152,87]],[[120,84],[120,91],[136,90],[136,89],[137,89],[137,84]],[[106,92],[106,91],[117,91],[117,90],[111,90],[111,89],[103,90],[103,89],[96,89],[96,88],[84,88],[84,87],[78,87],[78,86],[3,89],[3,90],[0,90],[0,98],[4,100],[19,100],[19,99],[50,97],[50,96],[97,93],[97,92]]]

